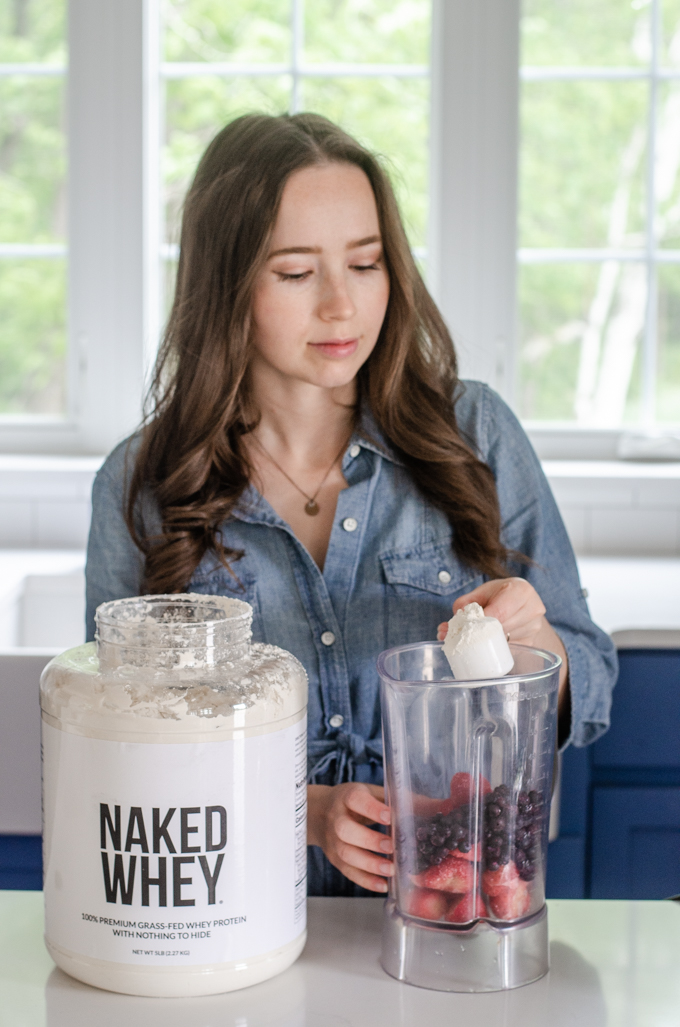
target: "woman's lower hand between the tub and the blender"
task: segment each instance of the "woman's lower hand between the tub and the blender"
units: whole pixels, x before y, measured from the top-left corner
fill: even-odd
[[[385,859],[391,838],[368,827],[389,824],[384,796],[383,788],[358,782],[307,787],[307,844],[319,845],[334,867],[370,891],[386,891],[385,878],[394,873]]]

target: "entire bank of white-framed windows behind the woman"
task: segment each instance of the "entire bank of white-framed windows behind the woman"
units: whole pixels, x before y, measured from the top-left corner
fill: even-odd
[[[182,198],[253,109],[319,111],[384,155],[462,375],[540,455],[680,422],[680,0],[520,8],[0,0],[0,448],[134,429]]]

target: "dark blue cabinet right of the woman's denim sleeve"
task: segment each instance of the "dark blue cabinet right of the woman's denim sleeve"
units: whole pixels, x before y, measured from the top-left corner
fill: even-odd
[[[680,651],[618,656],[610,730],[563,757],[551,898],[680,893]]]

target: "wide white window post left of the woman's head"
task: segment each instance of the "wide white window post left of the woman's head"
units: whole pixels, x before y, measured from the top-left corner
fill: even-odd
[[[70,0],[71,394],[85,452],[108,451],[141,415],[148,304],[157,303],[149,289],[157,179],[151,187],[145,142],[155,116],[146,40],[154,6]]]

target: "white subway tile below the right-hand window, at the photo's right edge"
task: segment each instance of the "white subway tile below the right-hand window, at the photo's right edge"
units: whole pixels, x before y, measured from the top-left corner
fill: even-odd
[[[639,507],[590,511],[590,549],[605,556],[675,556],[678,550],[678,512]]]

